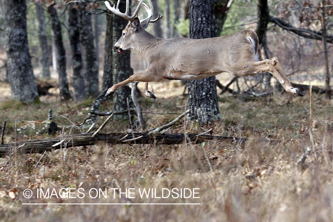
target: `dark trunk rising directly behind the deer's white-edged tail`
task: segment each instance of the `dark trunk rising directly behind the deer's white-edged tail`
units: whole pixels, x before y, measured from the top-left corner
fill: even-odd
[[[267,34],[267,25],[269,22],[269,7],[267,0],[258,0],[258,25],[256,33],[259,37],[259,43],[264,48],[264,53],[266,59],[269,59],[268,55],[268,47],[267,47],[267,40],[266,40],[266,34]],[[263,84],[265,88],[270,87],[270,79],[272,75],[270,73],[263,73]]]

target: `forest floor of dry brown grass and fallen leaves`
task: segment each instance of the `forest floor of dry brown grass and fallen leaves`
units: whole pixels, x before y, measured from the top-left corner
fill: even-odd
[[[6,86],[2,83],[0,89]],[[186,109],[187,97],[180,95],[184,87],[178,82],[153,85],[153,89],[156,100],[139,98],[143,111],[182,113]],[[178,95],[173,95],[175,92]],[[278,94],[265,98],[225,93],[219,96],[219,121],[201,127],[183,119],[168,131],[201,133],[211,127],[213,135],[250,138],[245,144],[100,144],[44,155],[20,155],[14,150],[0,158],[0,220],[333,221],[333,104],[323,95],[313,94],[310,123],[310,97],[309,92],[304,93],[304,97]],[[7,121],[5,143],[50,137],[14,134],[15,119],[45,120],[50,108],[59,127],[55,136],[68,135],[69,130],[63,126],[83,122],[94,101],[61,102],[49,95],[41,97],[39,104],[25,105],[8,97],[0,99],[1,127]],[[112,101],[104,101],[100,111],[112,111],[112,107]],[[148,128],[161,126],[176,116],[144,113]],[[99,117],[98,125],[105,118]],[[111,121],[102,132],[127,132],[128,128],[128,119],[124,118]],[[259,138],[276,141],[260,143]],[[312,151],[299,166],[307,147]],[[40,189],[46,197],[48,188],[50,198],[41,197]],[[93,198],[94,188],[104,194],[107,189],[107,197],[100,193]],[[121,193],[110,188],[121,188]],[[148,197],[141,197],[144,188],[153,189],[154,195],[150,190]],[[173,188],[178,194],[172,193]],[[32,191],[32,197],[24,197],[26,189]],[[167,189],[170,196],[158,198],[167,196]],[[184,192],[188,198],[184,198]],[[75,205],[82,203],[86,205]],[[148,203],[155,205],[135,205]],[[158,205],[161,203],[168,205]]]

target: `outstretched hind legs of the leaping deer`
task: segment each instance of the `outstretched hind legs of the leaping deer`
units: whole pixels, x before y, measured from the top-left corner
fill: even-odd
[[[286,74],[284,73],[279,61],[276,57],[271,59],[266,59],[264,61],[255,62],[254,67],[258,72],[268,72],[271,73],[275,79],[283,86],[284,90],[294,96],[304,96],[304,94],[291,86]]]

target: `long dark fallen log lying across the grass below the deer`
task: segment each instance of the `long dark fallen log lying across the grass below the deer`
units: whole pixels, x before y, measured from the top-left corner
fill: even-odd
[[[170,134],[153,134],[148,132],[134,133],[136,143],[142,144],[181,144],[184,142],[185,136],[183,133],[170,133]],[[126,137],[126,140],[124,138]],[[140,137],[140,138],[138,138]],[[230,136],[213,136],[213,135],[200,135],[195,133],[187,133],[187,142],[201,143],[206,140],[228,141],[244,143],[248,138],[230,137]],[[25,153],[42,153],[44,151],[51,151],[54,149],[60,149],[61,147],[72,146],[89,146],[89,145],[102,145],[108,142],[109,144],[122,144],[122,143],[134,143],[134,140],[130,140],[132,133],[99,133],[93,136],[93,133],[82,133],[75,135],[68,135],[63,137],[55,137],[49,139],[41,139],[35,141],[10,143],[0,145],[0,157],[9,153],[14,147],[21,154]],[[272,139],[259,139],[260,142],[272,142]]]

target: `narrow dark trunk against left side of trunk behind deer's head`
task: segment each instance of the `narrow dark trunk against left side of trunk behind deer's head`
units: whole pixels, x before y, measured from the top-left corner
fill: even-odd
[[[103,73],[102,91],[109,89],[113,85],[112,57],[113,57],[113,51],[115,51],[113,45],[114,42],[113,42],[113,13],[112,13],[112,14],[106,14],[104,73]]]

